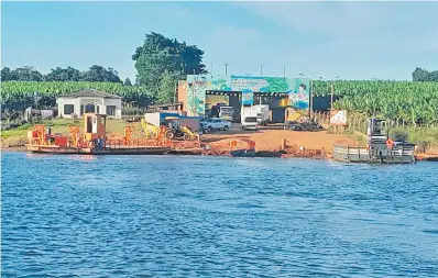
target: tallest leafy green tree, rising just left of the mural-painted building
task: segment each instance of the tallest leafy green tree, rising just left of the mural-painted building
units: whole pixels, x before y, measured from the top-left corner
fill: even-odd
[[[196,45],[152,32],[132,55],[138,71],[136,82],[157,96],[164,78],[167,82],[169,77],[183,79],[186,75],[207,73],[202,55],[204,52]]]

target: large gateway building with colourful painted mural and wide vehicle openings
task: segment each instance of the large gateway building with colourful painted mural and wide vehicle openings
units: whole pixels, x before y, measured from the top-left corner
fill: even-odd
[[[218,103],[233,107],[267,104],[271,122],[283,122],[286,108],[309,109],[310,79],[284,77],[189,75],[178,82],[178,101],[188,115],[206,116]]]

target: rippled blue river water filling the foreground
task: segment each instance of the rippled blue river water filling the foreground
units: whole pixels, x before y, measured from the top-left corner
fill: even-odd
[[[2,277],[438,277],[438,164],[2,153]]]

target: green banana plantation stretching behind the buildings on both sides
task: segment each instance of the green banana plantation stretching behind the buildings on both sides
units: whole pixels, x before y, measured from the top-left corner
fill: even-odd
[[[413,81],[314,81],[314,96],[327,96],[333,88],[339,97],[336,109],[347,110],[363,116],[384,116],[410,124],[438,123],[438,82]],[[1,84],[1,104],[17,109],[34,103],[34,92],[41,96],[42,105],[55,103],[56,96],[96,89],[123,98],[127,102],[139,105],[150,100],[145,87],[123,86],[117,82],[83,81],[7,81]]]

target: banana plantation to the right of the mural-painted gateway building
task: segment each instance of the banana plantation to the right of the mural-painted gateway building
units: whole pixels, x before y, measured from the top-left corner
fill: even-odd
[[[333,94],[340,97],[335,109],[413,125],[438,123],[438,82],[318,81],[315,94],[329,94],[331,85]]]

